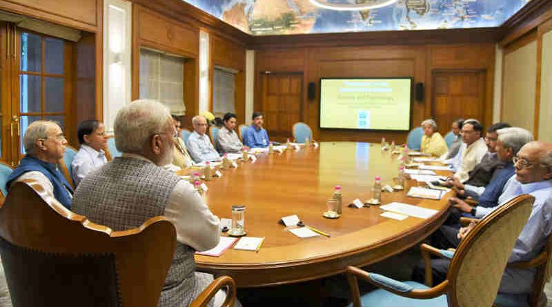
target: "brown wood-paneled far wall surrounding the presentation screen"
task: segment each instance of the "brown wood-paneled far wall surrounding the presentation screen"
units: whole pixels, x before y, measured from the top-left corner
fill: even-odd
[[[332,41],[339,45],[339,41]],[[265,48],[266,47],[266,48]],[[354,46],[279,48],[264,44],[255,56],[255,110],[262,104],[259,84],[266,72],[302,72],[304,76],[303,119],[313,128],[315,139],[322,141],[379,141],[384,136],[406,141],[407,132],[379,132],[319,129],[319,79],[322,77],[413,77],[424,83],[423,101],[413,100],[412,123],[431,117],[431,72],[434,70],[486,70],[486,105],[484,123],[492,119],[493,43],[415,44],[411,46]],[[307,97],[308,83],[316,84],[316,97]]]

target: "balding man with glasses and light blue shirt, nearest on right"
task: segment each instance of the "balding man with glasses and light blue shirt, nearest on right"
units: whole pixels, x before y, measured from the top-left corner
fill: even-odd
[[[538,255],[547,238],[552,232],[552,143],[533,141],[522,147],[514,159],[515,176],[506,184],[500,195],[500,206],[513,197],[530,194],[535,197],[533,210],[508,259],[509,263],[528,261]],[[491,210],[478,212],[477,217],[484,217]],[[462,228],[451,234],[464,237],[473,226]],[[460,240],[459,240],[460,241]],[[436,248],[450,248],[448,244],[435,246]],[[433,282],[440,283],[446,279],[446,271],[450,261],[446,259],[432,259]],[[416,266],[413,278],[424,281],[424,264]],[[502,275],[499,293],[510,295],[520,301],[526,301],[531,292],[531,284],[535,278],[535,269],[522,270],[506,268]],[[529,306],[529,305],[526,305]]]

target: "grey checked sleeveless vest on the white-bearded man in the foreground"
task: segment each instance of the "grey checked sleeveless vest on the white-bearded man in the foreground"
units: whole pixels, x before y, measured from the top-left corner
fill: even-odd
[[[164,215],[170,193],[179,180],[177,175],[149,161],[117,157],[81,181],[72,208],[113,230],[137,228],[151,217]],[[159,306],[188,306],[213,281],[211,275],[195,273],[194,252],[190,246],[177,242]]]

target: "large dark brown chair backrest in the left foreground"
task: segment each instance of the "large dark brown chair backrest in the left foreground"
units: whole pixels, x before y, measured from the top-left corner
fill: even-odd
[[[175,247],[165,217],[112,231],[67,210],[33,180],[14,184],[0,207],[15,307],[157,306]]]

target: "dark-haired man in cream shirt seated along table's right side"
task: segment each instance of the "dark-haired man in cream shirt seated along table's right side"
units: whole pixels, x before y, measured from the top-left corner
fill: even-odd
[[[462,124],[462,141],[466,143],[466,148],[462,150],[460,167],[454,173],[454,177],[462,183],[469,179],[468,173],[480,163],[487,152],[485,141],[481,138],[482,130],[483,126],[475,119],[466,119]]]

